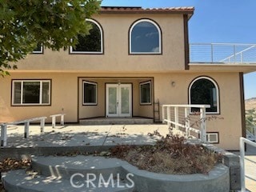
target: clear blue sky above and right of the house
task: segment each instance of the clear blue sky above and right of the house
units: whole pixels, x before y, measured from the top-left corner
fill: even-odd
[[[190,42],[256,44],[255,0],[103,0],[102,6],[194,6]],[[245,98],[256,98],[256,72],[245,74]]]

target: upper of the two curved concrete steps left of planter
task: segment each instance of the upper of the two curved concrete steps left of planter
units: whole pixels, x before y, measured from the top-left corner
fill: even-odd
[[[103,177],[122,176],[122,167],[128,162],[118,158],[105,158],[92,155],[78,155],[75,157],[65,156],[39,156],[32,159],[33,170],[45,176],[54,176],[58,178],[67,178],[73,174],[94,174],[98,178],[101,174]]]

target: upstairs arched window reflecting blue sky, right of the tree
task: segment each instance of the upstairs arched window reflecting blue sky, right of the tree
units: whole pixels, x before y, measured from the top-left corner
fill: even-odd
[[[140,19],[130,27],[130,54],[161,54],[161,30],[150,19]]]

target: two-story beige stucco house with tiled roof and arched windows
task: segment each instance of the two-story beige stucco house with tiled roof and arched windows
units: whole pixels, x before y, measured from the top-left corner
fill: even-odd
[[[219,146],[238,150],[245,134],[243,73],[256,66],[214,59],[192,63],[193,14],[193,7],[102,7],[86,19],[93,29],[78,46],[59,52],[39,47],[1,79],[0,122],[61,111],[66,122],[154,119],[154,102],[210,104],[206,114],[223,119],[207,122],[207,131],[218,134]],[[204,58],[208,48],[202,47]]]

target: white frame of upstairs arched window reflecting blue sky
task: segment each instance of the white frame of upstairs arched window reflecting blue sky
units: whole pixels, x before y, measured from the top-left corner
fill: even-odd
[[[158,29],[158,34],[159,34],[159,51],[158,52],[132,52],[131,50],[131,34],[132,34],[132,31],[134,29],[134,26],[136,26],[139,22],[150,22],[152,23],[157,29]],[[162,33],[161,33],[161,29],[160,27],[158,26],[158,24],[156,22],[153,22],[152,20],[150,19],[146,19],[146,18],[142,18],[142,19],[139,19],[137,22],[134,22],[134,24],[130,27],[130,31],[129,31],[129,53],[130,54],[162,54]]]

